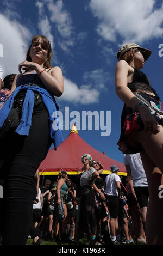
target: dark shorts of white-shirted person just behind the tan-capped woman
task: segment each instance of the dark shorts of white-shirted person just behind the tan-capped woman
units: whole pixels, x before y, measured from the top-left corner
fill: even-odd
[[[135,194],[137,197],[137,202],[140,205],[140,208],[148,206],[149,200],[149,191],[148,187],[134,187]]]

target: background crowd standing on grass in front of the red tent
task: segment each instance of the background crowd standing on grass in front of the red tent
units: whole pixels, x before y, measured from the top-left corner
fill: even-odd
[[[116,165],[110,167],[111,174],[103,179],[101,162],[84,154],[82,163],[82,173],[74,182],[62,171],[57,180],[46,179],[41,186],[37,171],[33,183],[36,195],[33,225],[29,233],[33,244],[40,245],[43,239],[55,244],[80,245],[85,236],[90,245],[146,244],[142,193],[140,196],[139,192],[139,200],[133,186],[127,185],[133,181],[134,171],[127,169],[126,190],[122,192],[122,176],[118,175]]]

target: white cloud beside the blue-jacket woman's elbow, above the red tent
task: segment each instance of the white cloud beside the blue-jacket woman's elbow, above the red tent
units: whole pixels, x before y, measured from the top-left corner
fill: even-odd
[[[65,78],[64,93],[60,97],[61,100],[70,101],[72,103],[90,104],[99,100],[99,91],[91,85],[83,85],[78,88],[77,84]]]

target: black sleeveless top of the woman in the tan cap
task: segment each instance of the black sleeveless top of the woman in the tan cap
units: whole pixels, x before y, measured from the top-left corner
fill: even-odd
[[[150,86],[147,76],[139,69],[134,68],[133,81],[127,87],[134,93],[137,89],[144,92],[151,92],[156,95],[156,91]]]

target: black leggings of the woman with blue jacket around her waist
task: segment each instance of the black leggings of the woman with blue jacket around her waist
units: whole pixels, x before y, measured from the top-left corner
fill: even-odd
[[[3,139],[3,245],[26,245],[33,220],[33,179],[51,144],[48,112],[43,102],[34,106],[29,136],[12,132]]]

